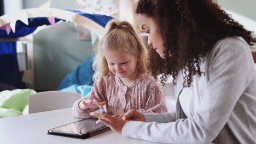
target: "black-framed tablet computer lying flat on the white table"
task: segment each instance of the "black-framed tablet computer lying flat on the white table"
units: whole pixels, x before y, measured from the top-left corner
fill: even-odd
[[[98,118],[86,118],[77,122],[62,125],[57,128],[49,129],[48,134],[87,139],[88,137],[103,133],[109,130],[104,123],[95,122]]]

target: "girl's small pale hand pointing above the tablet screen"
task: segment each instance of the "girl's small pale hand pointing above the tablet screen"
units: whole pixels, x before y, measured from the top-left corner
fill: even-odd
[[[97,100],[95,99],[85,99],[83,101],[80,101],[79,103],[79,107],[80,109],[86,111],[88,109],[101,109],[102,111],[104,110],[103,105],[106,105],[106,101],[103,101],[101,103],[99,103]]]

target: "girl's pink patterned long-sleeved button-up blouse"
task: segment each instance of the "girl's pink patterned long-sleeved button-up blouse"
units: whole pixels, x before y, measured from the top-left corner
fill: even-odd
[[[88,118],[91,117],[90,112],[96,111],[96,109],[81,110],[78,104],[84,99],[107,101],[106,112],[110,115],[121,114],[131,109],[143,113],[167,112],[164,93],[152,76],[138,76],[127,86],[114,74],[101,77],[94,83],[94,87],[86,97],[80,98],[73,104],[74,117]]]

